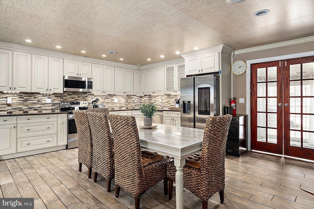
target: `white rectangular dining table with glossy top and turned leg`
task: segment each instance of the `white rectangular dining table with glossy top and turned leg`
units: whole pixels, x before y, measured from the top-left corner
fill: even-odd
[[[174,159],[176,166],[176,209],[183,209],[183,166],[185,158],[201,150],[204,129],[153,123],[151,127],[136,121],[143,149]]]

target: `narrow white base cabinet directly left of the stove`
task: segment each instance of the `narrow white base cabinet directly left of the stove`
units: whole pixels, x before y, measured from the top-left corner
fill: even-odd
[[[57,116],[57,146],[68,143],[68,115],[58,114]]]

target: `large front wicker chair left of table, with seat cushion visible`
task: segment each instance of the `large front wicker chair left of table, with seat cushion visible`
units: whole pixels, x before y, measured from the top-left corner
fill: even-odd
[[[139,209],[140,196],[161,180],[164,181],[164,193],[167,195],[168,160],[157,153],[141,151],[134,116],[108,117],[113,133],[116,197],[119,197],[122,186],[134,194],[135,208]]]

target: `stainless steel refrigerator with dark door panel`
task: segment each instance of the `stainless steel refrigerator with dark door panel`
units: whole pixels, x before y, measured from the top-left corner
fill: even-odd
[[[208,116],[219,116],[219,76],[181,78],[181,126],[204,129]]]

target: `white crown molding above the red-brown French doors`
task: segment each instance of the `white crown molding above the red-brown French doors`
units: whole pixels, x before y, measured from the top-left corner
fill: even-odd
[[[275,43],[275,44],[268,44],[268,45],[263,45],[263,46],[256,46],[256,47],[251,47],[251,48],[240,49],[240,50],[236,50],[235,54],[243,54],[243,53],[248,53],[248,52],[253,52],[253,51],[261,51],[261,50],[270,49],[270,48],[278,48],[278,47],[282,47],[282,46],[303,44],[306,42],[313,42],[313,41],[314,41],[314,36],[309,36],[306,38],[294,39],[294,40],[279,42],[279,43]]]

